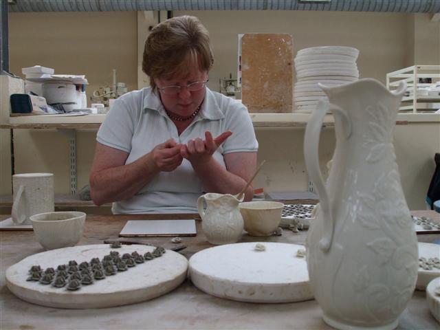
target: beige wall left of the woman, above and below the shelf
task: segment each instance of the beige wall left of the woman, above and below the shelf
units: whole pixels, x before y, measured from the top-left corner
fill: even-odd
[[[137,12],[10,13],[10,70],[43,65],[85,74],[87,95],[111,84],[111,69],[137,88]],[[24,78],[24,76],[23,76]],[[78,189],[88,184],[96,132],[77,132]],[[14,130],[16,173],[49,171],[56,193],[69,193],[69,137],[55,130]],[[10,188],[9,188],[10,190]],[[1,194],[10,192],[0,192]]]

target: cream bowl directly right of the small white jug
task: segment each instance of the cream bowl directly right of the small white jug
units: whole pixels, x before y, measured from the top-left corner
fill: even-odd
[[[279,201],[245,201],[239,203],[244,228],[251,236],[270,236],[281,222],[283,203]]]

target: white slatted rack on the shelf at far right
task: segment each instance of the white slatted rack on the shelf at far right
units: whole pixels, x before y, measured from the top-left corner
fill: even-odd
[[[440,81],[440,65],[414,65],[386,74],[388,89],[395,89],[401,81],[406,81],[406,91],[409,92],[409,96],[402,98],[399,111],[418,113],[440,109],[440,104],[438,107],[432,106],[432,104],[440,103],[440,94],[420,95],[420,91],[417,89],[420,78],[430,78],[431,83],[437,83]]]

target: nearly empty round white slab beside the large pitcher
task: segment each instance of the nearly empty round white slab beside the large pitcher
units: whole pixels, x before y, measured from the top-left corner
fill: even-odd
[[[220,298],[251,303],[290,303],[313,299],[303,245],[261,243],[219,245],[194,254],[189,263],[192,283]]]

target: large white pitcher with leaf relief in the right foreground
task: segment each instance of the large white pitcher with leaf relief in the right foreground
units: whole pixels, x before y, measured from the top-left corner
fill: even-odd
[[[311,289],[338,329],[394,329],[417,280],[417,237],[401,189],[393,131],[406,84],[390,92],[374,79],[321,86],[305,132],[307,171],[320,206],[307,234]],[[336,150],[322,179],[318,142],[333,111]]]

